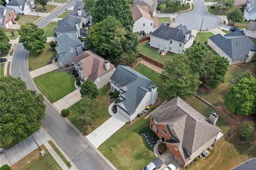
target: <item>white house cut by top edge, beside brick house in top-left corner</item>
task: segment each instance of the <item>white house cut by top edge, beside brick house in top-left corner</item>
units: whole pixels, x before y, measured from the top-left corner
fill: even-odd
[[[14,9],[18,14],[27,14],[35,7],[34,0],[5,0],[6,6]]]

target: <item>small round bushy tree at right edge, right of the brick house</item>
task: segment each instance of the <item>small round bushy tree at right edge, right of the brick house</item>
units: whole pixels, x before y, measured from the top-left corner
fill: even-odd
[[[243,141],[252,140],[254,135],[254,123],[252,121],[242,122],[237,128],[237,134]]]

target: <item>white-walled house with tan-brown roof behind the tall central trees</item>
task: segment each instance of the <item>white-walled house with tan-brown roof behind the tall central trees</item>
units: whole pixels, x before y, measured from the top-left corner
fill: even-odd
[[[149,34],[159,27],[156,17],[151,17],[147,6],[132,7],[133,33]]]

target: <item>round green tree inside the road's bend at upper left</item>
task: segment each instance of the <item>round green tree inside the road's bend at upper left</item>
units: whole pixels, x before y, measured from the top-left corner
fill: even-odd
[[[18,33],[20,35],[19,43],[23,43],[26,50],[37,54],[43,51],[47,37],[42,28],[38,28],[34,23],[26,23],[26,25],[21,25]]]

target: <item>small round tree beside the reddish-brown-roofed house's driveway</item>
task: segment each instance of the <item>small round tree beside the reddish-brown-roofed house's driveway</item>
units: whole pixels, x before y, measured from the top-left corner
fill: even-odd
[[[80,89],[82,97],[87,96],[88,98],[95,99],[99,95],[100,91],[92,80],[87,79]]]

